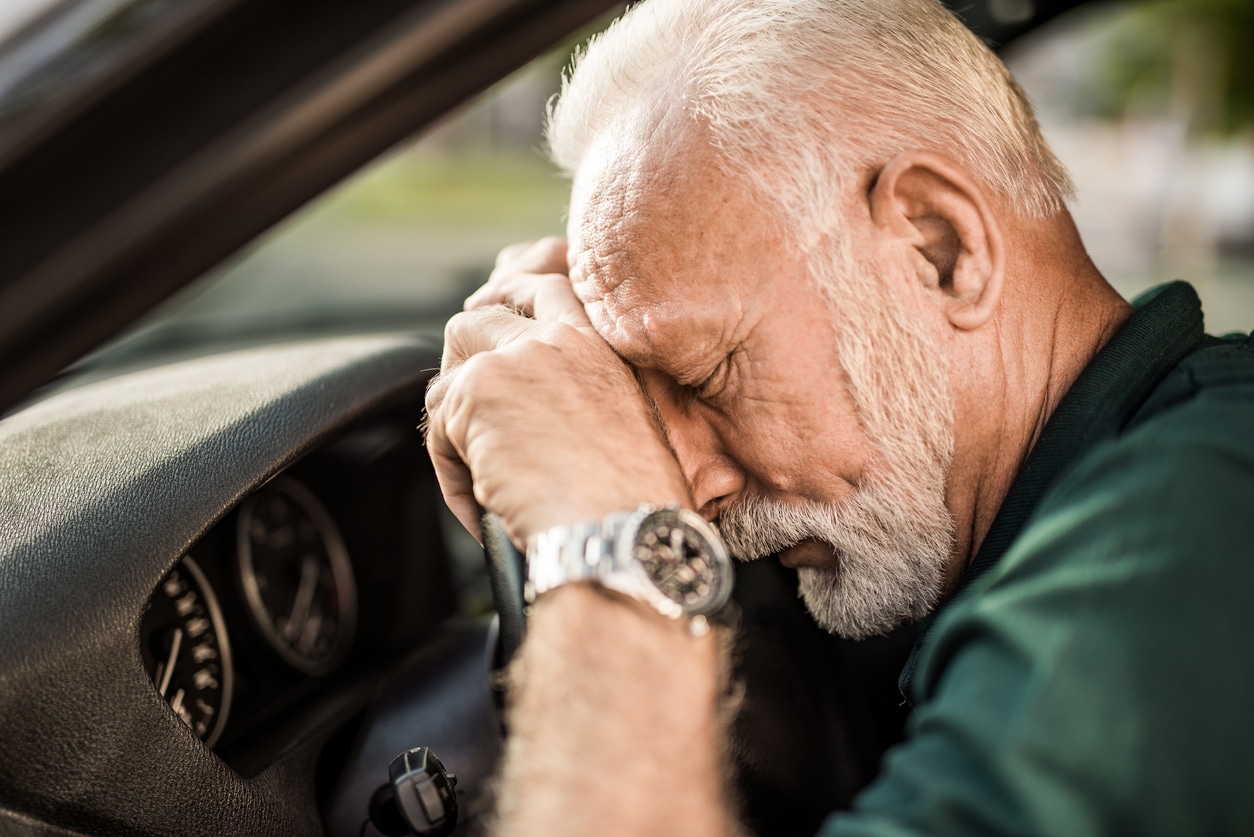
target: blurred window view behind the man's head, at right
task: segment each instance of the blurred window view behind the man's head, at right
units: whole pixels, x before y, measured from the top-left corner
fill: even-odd
[[[1121,294],[1198,289],[1211,334],[1254,328],[1254,4],[1091,5],[1004,58],[1077,184],[1072,212]]]

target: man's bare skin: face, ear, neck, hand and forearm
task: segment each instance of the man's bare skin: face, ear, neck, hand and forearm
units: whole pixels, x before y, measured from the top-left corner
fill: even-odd
[[[1129,309],[1066,213],[1017,218],[940,154],[868,173],[843,217],[951,370],[952,581]],[[803,253],[678,115],[627,119],[593,144],[568,235],[569,248],[504,251],[446,331],[429,447],[472,531],[478,506],[524,542],[641,502],[707,517],[746,492],[839,502],[874,467]],[[785,557],[836,560],[819,543]],[[509,833],[732,831],[714,637],[589,585],[547,594],[528,630],[502,777]]]

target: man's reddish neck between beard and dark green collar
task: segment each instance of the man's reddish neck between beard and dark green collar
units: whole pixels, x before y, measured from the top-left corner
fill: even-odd
[[[982,340],[983,374],[957,393],[951,508],[969,521],[957,533],[951,582],[979,551],[1050,417],[1085,366],[1115,335],[1131,306],[1083,250],[1071,216],[1021,222],[1007,236],[997,323]]]

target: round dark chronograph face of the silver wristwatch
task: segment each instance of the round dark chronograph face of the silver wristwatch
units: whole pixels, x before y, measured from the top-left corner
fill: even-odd
[[[727,553],[706,530],[710,526],[691,512],[662,509],[641,522],[632,545],[648,580],[686,614],[719,610],[731,587]]]

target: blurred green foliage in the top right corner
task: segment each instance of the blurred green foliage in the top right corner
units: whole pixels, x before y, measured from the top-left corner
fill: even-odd
[[[1195,134],[1254,122],[1254,1],[1141,0],[1112,33],[1096,109],[1170,112]]]

